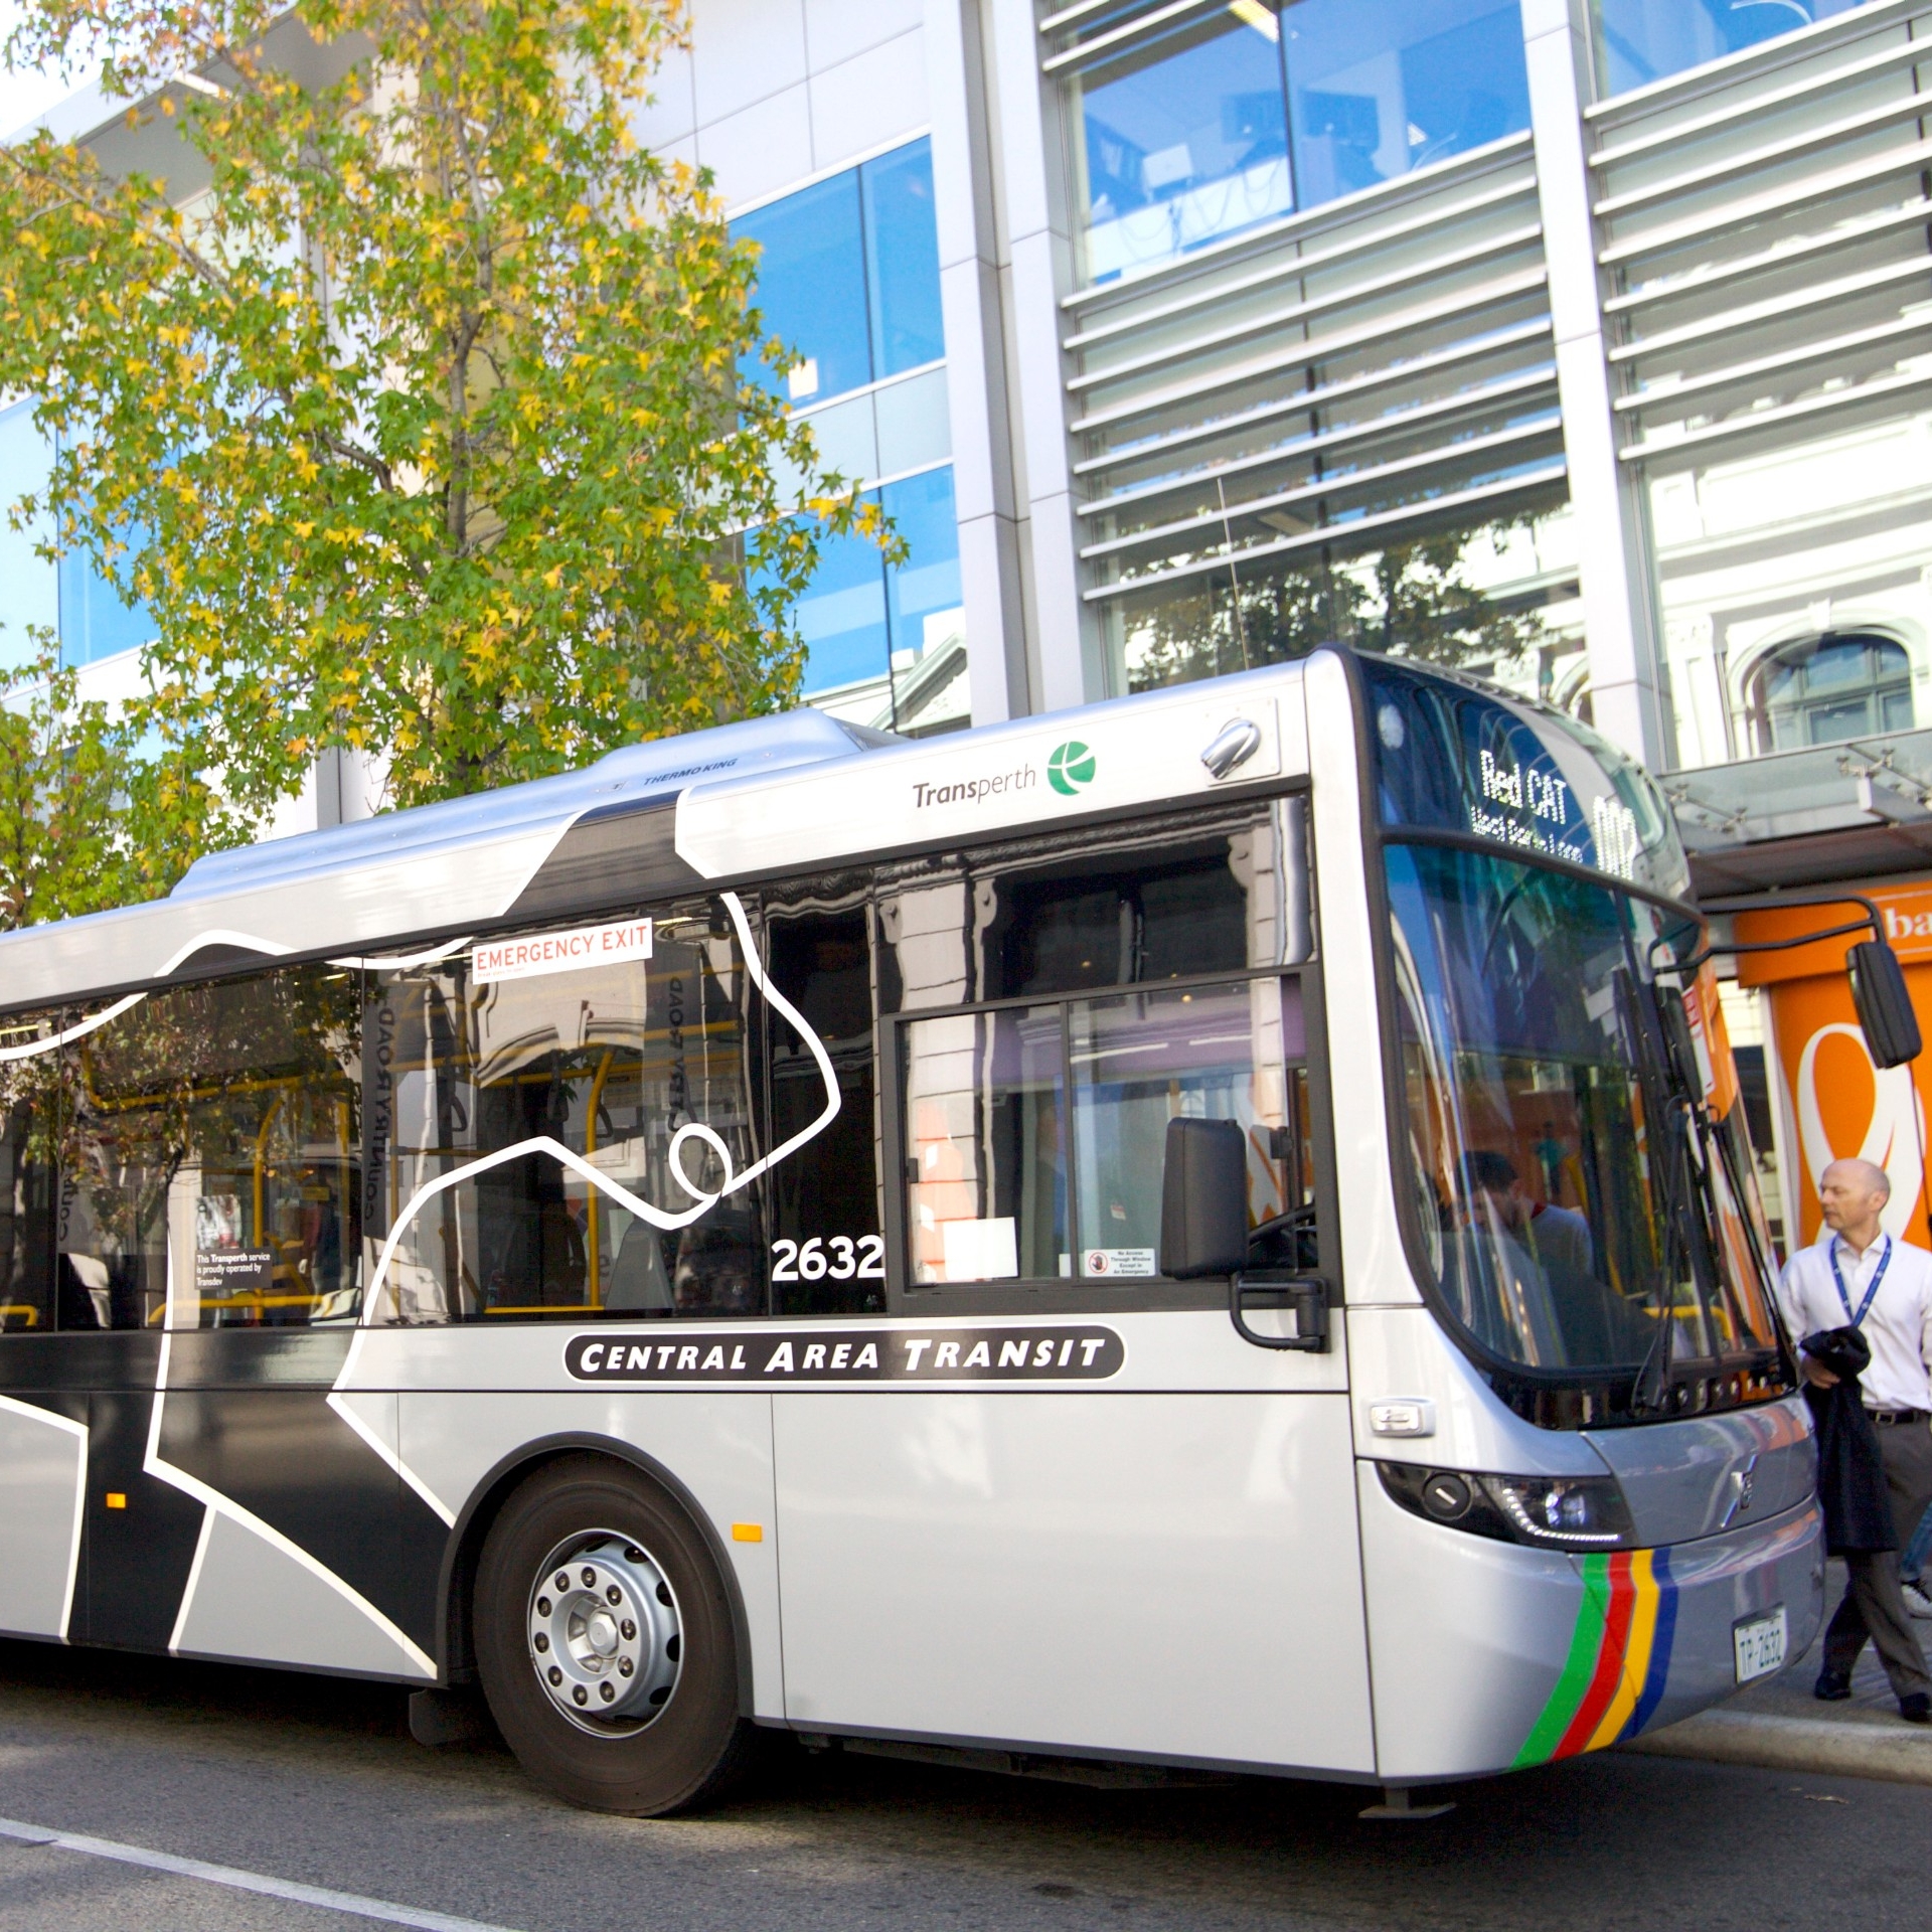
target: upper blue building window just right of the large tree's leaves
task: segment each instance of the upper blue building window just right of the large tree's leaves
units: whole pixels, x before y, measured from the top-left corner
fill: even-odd
[[[945,355],[929,141],[740,214],[732,232],[759,249],[765,332],[798,352],[782,377],[759,367],[752,379],[788,402],[827,402]]]

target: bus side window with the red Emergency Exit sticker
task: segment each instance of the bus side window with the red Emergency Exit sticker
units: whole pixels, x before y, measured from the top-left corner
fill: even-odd
[[[518,962],[526,941],[568,956],[585,931],[620,927],[614,960]],[[369,1196],[390,1250],[375,1318],[761,1314],[759,1192],[734,1184],[755,1161],[746,1007],[719,900],[508,933],[379,976]],[[694,1196],[715,1200],[694,1211]]]

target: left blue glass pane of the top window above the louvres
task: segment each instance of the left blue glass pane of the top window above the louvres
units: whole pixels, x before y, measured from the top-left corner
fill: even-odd
[[[1236,0],[1086,70],[1080,133],[1090,282],[1287,213],[1273,8]]]

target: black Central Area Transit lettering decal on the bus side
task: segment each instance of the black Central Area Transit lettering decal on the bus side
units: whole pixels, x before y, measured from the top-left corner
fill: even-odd
[[[1126,1362],[1111,1327],[680,1329],[572,1335],[564,1368],[597,1383],[1103,1381]]]

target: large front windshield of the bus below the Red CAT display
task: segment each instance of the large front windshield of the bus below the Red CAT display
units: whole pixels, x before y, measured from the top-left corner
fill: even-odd
[[[1383,854],[1399,1186],[1453,1323],[1505,1379],[1613,1391],[1594,1420],[1781,1387],[1743,1109],[1692,1092],[1654,991],[1698,927],[1501,852]]]

